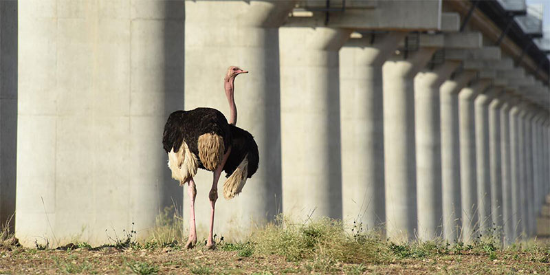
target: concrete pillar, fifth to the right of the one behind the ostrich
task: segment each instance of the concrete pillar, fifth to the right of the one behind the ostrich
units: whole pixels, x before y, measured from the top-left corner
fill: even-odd
[[[459,91],[475,76],[462,72],[445,80],[441,93],[441,191],[443,238],[459,241],[461,218]]]

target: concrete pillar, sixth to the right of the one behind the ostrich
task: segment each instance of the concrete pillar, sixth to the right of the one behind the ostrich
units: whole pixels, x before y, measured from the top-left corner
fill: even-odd
[[[478,80],[474,85],[461,89],[459,93],[461,236],[464,243],[472,242],[478,227],[474,98],[488,85],[488,80]]]

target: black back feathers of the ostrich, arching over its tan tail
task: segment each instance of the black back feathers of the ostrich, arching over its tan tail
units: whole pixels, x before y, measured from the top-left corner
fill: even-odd
[[[175,111],[170,113],[164,133],[162,135],[162,145],[166,153],[174,148],[174,152],[179,151],[181,142],[185,142],[191,153],[199,155],[199,136],[205,133],[215,133],[223,138],[223,146],[227,153],[231,145],[232,136],[228,120],[223,113],[212,108],[197,108],[190,111]],[[201,160],[199,168],[204,169]]]

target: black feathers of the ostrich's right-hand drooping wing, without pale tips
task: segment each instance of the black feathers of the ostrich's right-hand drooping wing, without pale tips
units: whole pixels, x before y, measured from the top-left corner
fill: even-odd
[[[252,137],[248,131],[231,124],[229,126],[231,129],[232,143],[231,153],[229,154],[227,162],[225,162],[225,166],[223,166],[225,177],[229,177],[248,155],[247,177],[250,178],[256,173],[256,170],[258,170],[260,161],[258,145],[254,141],[254,137]]]

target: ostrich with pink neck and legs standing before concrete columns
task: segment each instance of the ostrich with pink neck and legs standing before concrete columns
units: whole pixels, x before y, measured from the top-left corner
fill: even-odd
[[[195,228],[195,197],[197,188],[193,177],[197,168],[214,172],[210,199],[210,231],[206,247],[214,248],[212,231],[214,229],[214,205],[218,198],[218,180],[221,171],[226,177],[223,184],[223,197],[232,199],[238,195],[246,183],[258,170],[259,153],[254,137],[236,124],[236,105],[234,100],[234,80],[239,74],[246,74],[239,67],[231,66],[224,78],[225,96],[230,107],[229,122],[223,113],[212,108],[197,108],[191,111],[175,111],[170,114],[162,137],[164,151],[168,153],[168,167],[172,177],[180,186],[188,184],[190,197],[190,228],[186,248],[197,244]]]

